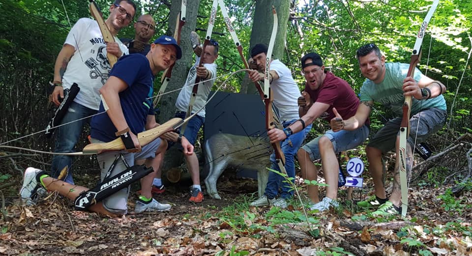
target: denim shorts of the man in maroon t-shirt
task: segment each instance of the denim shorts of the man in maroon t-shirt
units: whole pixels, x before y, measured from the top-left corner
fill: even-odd
[[[369,127],[365,124],[354,131],[341,130],[333,132],[333,130],[329,130],[323,135],[318,136],[313,141],[306,143],[302,148],[310,155],[311,161],[315,161],[321,159],[320,148],[318,145],[321,137],[326,136],[329,138],[333,143],[334,152],[339,153],[353,149],[362,144],[369,137],[369,132]]]

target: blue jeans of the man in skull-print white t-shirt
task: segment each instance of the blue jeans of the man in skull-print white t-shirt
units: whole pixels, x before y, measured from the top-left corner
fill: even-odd
[[[96,114],[96,110],[89,109],[84,107],[76,102],[72,102],[67,113],[62,118],[60,124],[72,122],[92,114]],[[90,117],[82,119],[80,121],[75,121],[73,123],[60,126],[56,131],[56,147],[54,152],[56,153],[70,153],[74,152],[75,144],[79,140],[80,135],[82,134],[82,128],[86,123],[90,122]],[[60,171],[67,166],[69,172],[65,178],[65,182],[74,184],[72,179],[72,156],[62,156],[55,155],[53,157],[52,166],[51,166],[51,177],[57,178]]]

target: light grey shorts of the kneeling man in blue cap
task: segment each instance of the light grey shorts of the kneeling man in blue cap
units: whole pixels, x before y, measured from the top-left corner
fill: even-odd
[[[92,143],[101,143],[100,141],[91,138]],[[156,151],[159,145],[161,144],[161,139],[154,140],[149,142],[147,145],[143,146],[141,152],[138,153],[128,153],[126,151],[111,151],[97,155],[98,165],[100,166],[101,180],[105,178],[105,175],[110,169],[110,166],[113,164],[117,158],[119,152],[121,152],[126,159],[128,165],[134,166],[136,160],[139,159],[148,159],[154,158],[156,156]],[[111,176],[116,175],[122,171],[126,170],[126,167],[123,164],[123,161],[118,160],[117,165],[112,171]],[[106,199],[102,200],[103,207],[114,214],[126,214],[127,207],[126,203],[128,201],[129,195],[129,186],[123,188],[120,191],[116,192],[113,195],[110,195]]]

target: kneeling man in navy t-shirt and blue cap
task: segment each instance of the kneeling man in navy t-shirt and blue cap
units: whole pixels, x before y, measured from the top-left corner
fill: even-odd
[[[110,177],[129,170],[124,162],[132,167],[135,163],[145,161],[147,167],[152,167],[154,171],[157,170],[160,158],[156,157],[156,154],[165,150],[166,145],[157,138],[141,146],[136,134],[157,125],[150,99],[154,75],[168,68],[181,56],[182,51],[176,40],[170,36],[161,36],[151,44],[146,57],[141,54],[121,57],[111,70],[110,78],[100,89],[102,102],[99,113],[106,111],[106,114],[98,114],[92,118],[90,123],[91,140],[93,143],[111,142],[119,137],[125,145],[131,143],[131,147],[134,144],[135,148],[123,152],[109,151],[97,155],[102,180],[109,169],[112,170]],[[182,138],[181,145],[185,154],[193,153],[193,146],[185,138]],[[127,146],[127,148],[130,147]],[[120,154],[125,161],[118,159]],[[111,168],[113,165],[115,167]],[[154,176],[155,172],[151,172],[141,179],[142,192],[136,202],[136,213],[165,211],[171,208],[170,204],[161,204],[152,199],[151,184]],[[44,171],[28,168],[25,171],[25,179],[20,191],[22,199],[30,201],[31,197],[34,197],[34,192],[41,186],[50,191],[58,191],[59,194],[69,199],[77,199],[82,192],[88,190],[54,179]],[[129,186],[107,196],[88,209],[110,216],[126,214],[128,194]]]

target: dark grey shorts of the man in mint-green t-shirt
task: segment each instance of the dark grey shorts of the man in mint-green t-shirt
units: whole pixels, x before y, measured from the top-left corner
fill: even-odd
[[[441,130],[446,121],[446,114],[447,112],[445,110],[427,109],[411,116],[410,136],[408,137],[410,146],[413,148],[415,138],[416,144],[425,142],[429,135]],[[385,126],[375,134],[374,138],[372,138],[367,146],[380,149],[382,153],[394,149],[397,136],[400,135],[401,122],[401,117],[388,120]]]

